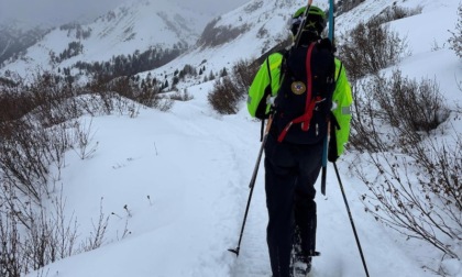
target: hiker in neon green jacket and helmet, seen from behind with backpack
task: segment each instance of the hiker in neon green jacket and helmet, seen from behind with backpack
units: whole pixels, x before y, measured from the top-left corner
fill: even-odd
[[[293,15],[295,38],[305,10]],[[273,277],[310,272],[317,253],[315,182],[322,167],[324,140],[330,129],[328,159],[336,162],[350,133],[351,88],[342,63],[333,57],[331,42],[321,38],[326,23],[326,13],[311,5],[298,44],[271,54],[249,90],[251,115],[272,120],[264,164]],[[255,102],[257,98],[262,101]]]

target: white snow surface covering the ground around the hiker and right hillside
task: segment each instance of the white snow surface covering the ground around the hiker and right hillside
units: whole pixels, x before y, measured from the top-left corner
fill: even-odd
[[[356,11],[363,9],[361,14],[373,16],[384,2],[389,1],[366,1]],[[397,67],[410,78],[435,78],[448,103],[460,104],[462,92],[457,81],[462,78],[462,62],[447,43],[448,30],[457,23],[457,1],[397,2],[424,7],[421,14],[391,24],[407,35],[411,49],[411,55]],[[338,22],[346,31],[346,23],[342,22],[358,22],[358,14],[339,16]],[[433,42],[439,47],[433,47]],[[227,55],[245,53],[252,46],[252,37],[234,46],[232,52],[217,49],[218,55],[209,52],[208,59],[229,63]],[[99,49],[97,44],[95,49]],[[228,252],[238,244],[260,148],[260,122],[250,118],[245,103],[235,115],[218,115],[207,101],[212,86],[206,82],[188,87],[194,99],[176,102],[168,112],[146,108],[134,119],[80,119],[86,124],[91,122],[91,143],[98,144],[97,152],[82,160],[69,151],[58,185],[63,187],[67,217],[74,214],[78,220],[80,240],[94,231],[100,209],[110,215],[108,233],[100,248],[51,264],[41,272],[44,276],[271,276],[263,166],[240,255]],[[453,124],[462,132],[460,121]],[[371,276],[429,277],[437,275],[427,266],[442,266],[448,276],[461,277],[460,261],[441,264],[441,253],[424,242],[407,241],[365,213],[360,196],[366,187],[349,171],[352,157],[352,153],[346,153],[338,166]],[[365,276],[331,165],[327,184],[327,196],[317,196],[317,245],[322,255],[314,259],[312,276]],[[316,186],[319,188],[319,180]],[[122,239],[125,229],[130,234]]]

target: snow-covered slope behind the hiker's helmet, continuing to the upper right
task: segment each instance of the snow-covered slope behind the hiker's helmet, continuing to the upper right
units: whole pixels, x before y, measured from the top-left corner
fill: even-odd
[[[239,60],[253,60],[264,53],[271,51],[278,43],[290,37],[288,32],[288,20],[293,12],[305,3],[297,0],[253,0],[229,13],[226,13],[210,22],[202,33],[207,32],[220,35],[220,32],[239,30],[239,35],[232,41],[218,45],[199,44],[190,52],[167,65],[148,71],[152,76],[173,76],[174,71],[182,69],[186,64],[197,68],[206,66],[207,74],[219,73],[222,68],[230,68]],[[315,1],[314,4],[327,9],[328,1]],[[405,18],[388,23],[392,31],[397,32],[406,40],[408,52],[413,55],[425,57],[436,47],[448,49],[448,30],[454,27],[457,22],[457,3],[448,1],[431,0],[376,0],[364,1],[350,12],[343,13],[336,19],[336,33],[338,43],[341,44],[341,36],[348,35],[349,31],[358,23],[383,13],[391,7],[399,7],[410,10],[421,10],[420,14]],[[443,13],[444,16],[440,14]],[[204,40],[202,40],[204,41]],[[440,45],[436,46],[436,43]],[[428,65],[430,67],[430,65]],[[427,68],[429,69],[429,68]],[[433,71],[430,68],[430,71]],[[141,76],[146,76],[144,73]],[[188,86],[186,84],[186,86]]]

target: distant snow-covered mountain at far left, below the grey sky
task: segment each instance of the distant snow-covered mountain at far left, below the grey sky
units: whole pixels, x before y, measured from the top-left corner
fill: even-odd
[[[167,0],[133,0],[87,25],[55,29],[26,54],[0,69],[20,76],[35,74],[37,69],[53,71],[81,62],[108,62],[113,56],[131,55],[150,47],[170,49],[174,45],[196,43],[205,22],[200,15]],[[68,59],[54,62],[69,43],[79,43],[82,52]]]

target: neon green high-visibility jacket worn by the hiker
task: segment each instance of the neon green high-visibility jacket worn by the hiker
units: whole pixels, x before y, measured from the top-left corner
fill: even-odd
[[[253,82],[249,89],[248,110],[252,117],[256,111],[265,109],[265,113],[270,113],[271,104],[266,104],[263,99],[267,95],[275,97],[280,87],[280,67],[283,63],[283,54],[274,53],[270,55],[261,65]],[[263,100],[262,100],[263,99]],[[261,101],[263,101],[263,104]],[[332,113],[340,125],[336,130],[338,156],[343,154],[344,145],[348,143],[350,135],[351,106],[353,97],[351,95],[350,82],[346,78],[346,71],[342,63],[336,58],[336,90],[332,96]],[[333,126],[332,126],[333,128]]]

